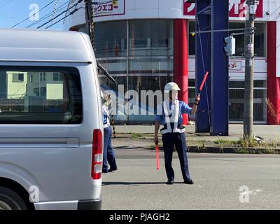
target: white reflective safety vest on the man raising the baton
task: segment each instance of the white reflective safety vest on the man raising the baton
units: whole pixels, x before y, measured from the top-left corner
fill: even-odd
[[[174,102],[174,109],[169,109],[169,101],[162,102],[163,113],[165,115],[165,127],[160,130],[161,134],[184,133],[185,128],[178,127],[179,120],[179,101]]]

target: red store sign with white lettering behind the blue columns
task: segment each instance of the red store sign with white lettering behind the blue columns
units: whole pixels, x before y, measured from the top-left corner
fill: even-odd
[[[195,15],[195,3],[188,3],[183,0],[183,15]],[[256,0],[257,4],[255,16],[263,18],[263,0]],[[246,17],[246,0],[229,0],[229,16],[230,17]]]

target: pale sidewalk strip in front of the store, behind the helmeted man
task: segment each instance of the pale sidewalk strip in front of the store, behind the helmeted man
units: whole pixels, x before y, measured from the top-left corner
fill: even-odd
[[[154,125],[116,125],[116,139],[113,147],[127,150],[145,149],[154,145]],[[214,141],[238,141],[243,134],[243,125],[230,125],[229,136],[211,136],[209,133],[195,133],[195,125],[186,125],[186,140],[188,146],[213,147]],[[264,142],[280,142],[280,126],[254,125],[253,134],[262,137]],[[161,134],[159,134],[161,138]],[[161,140],[160,140],[161,143]]]

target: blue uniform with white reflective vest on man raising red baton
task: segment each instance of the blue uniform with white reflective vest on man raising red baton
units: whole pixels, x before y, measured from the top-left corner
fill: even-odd
[[[191,111],[192,109],[188,104],[178,100],[174,104],[169,100],[164,101],[158,106],[155,120],[159,121],[161,125],[164,125],[160,133],[162,134],[163,148],[165,151],[165,170],[169,180],[174,180],[174,170],[172,168],[174,145],[179,155],[183,179],[190,179],[185,128],[182,126],[182,113],[190,114]]]

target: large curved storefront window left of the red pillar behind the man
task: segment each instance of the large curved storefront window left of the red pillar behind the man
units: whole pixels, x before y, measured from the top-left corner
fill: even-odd
[[[147,111],[147,115],[137,116],[122,112],[121,116],[116,116],[116,122],[145,123],[154,120],[154,115],[148,115],[148,112],[155,112],[157,100],[155,99],[153,105],[148,105],[148,100],[141,98],[141,90],[153,92],[163,90],[165,84],[172,81],[173,20],[99,22],[95,25],[94,38],[97,60],[117,80],[118,85],[124,85],[125,92],[127,90],[139,92],[137,102],[139,113]],[[105,76],[100,75],[100,82],[104,90],[118,92],[118,85],[113,84]],[[118,97],[124,98],[122,94]]]

